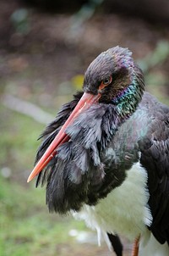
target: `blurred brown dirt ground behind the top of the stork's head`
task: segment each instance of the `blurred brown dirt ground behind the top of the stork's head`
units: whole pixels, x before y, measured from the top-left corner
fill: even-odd
[[[30,67],[34,69],[32,80],[41,77],[51,93],[60,82],[84,74],[90,61],[108,47],[129,47],[139,59],[152,52],[158,42],[169,42],[167,25],[153,25],[132,16],[96,13],[80,24],[74,14],[41,13],[17,1],[2,0],[0,4],[1,77]],[[13,16],[20,8],[27,14],[17,21]],[[166,78],[168,69],[166,59],[154,71]]]

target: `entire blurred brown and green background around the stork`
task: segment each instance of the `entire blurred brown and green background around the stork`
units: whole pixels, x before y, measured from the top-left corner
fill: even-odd
[[[166,0],[1,0],[1,256],[112,255],[104,243],[97,247],[84,223],[48,214],[45,189],[26,180],[37,137],[108,47],[129,47],[144,70],[146,90],[169,104],[167,7]],[[131,245],[123,242],[129,255]]]

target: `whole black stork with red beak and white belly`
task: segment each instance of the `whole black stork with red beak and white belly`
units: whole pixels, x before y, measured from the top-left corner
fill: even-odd
[[[169,108],[144,92],[131,55],[112,47],[90,64],[83,92],[42,133],[28,181],[38,175],[50,211],[71,212],[107,242],[121,233],[133,255],[168,256]]]

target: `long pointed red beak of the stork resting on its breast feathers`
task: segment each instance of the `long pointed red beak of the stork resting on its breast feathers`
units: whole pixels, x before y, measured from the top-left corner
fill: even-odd
[[[90,105],[93,103],[97,103],[101,94],[98,93],[97,95],[92,95],[90,93],[84,93],[83,96],[80,98],[79,103],[76,105],[74,111],[68,117],[68,120],[64,123],[62,129],[58,132],[57,136],[52,141],[51,145],[46,149],[46,153],[41,157],[37,164],[35,164],[34,170],[30,173],[27,182],[30,182],[35,178],[35,175],[41,172],[46,167],[52,158],[57,154],[57,147],[59,147],[64,142],[68,142],[69,137],[65,133],[68,125],[71,125],[74,119],[80,114],[81,111],[85,109],[89,109]]]

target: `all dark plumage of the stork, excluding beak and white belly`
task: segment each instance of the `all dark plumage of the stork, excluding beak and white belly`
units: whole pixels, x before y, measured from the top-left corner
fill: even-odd
[[[102,83],[103,82],[103,83]],[[101,86],[102,85],[102,86]],[[115,47],[95,58],[85,73],[84,92],[101,93],[66,128],[67,141],[38,175],[46,183],[51,211],[66,214],[96,205],[125,181],[134,163],[148,175],[148,228],[169,243],[169,108],[144,92],[144,77],[127,49]],[[35,162],[74,111],[83,92],[63,105],[46,127]],[[113,206],[112,206],[113,207]]]

